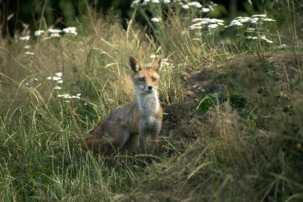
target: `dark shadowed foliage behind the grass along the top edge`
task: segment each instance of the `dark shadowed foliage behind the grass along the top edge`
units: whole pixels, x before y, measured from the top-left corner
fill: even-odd
[[[126,27],[126,19],[132,15],[133,11],[130,8],[131,2],[132,0],[0,0],[0,29],[3,36],[13,36],[15,31],[20,32],[24,28],[38,30],[43,28],[43,25],[48,27],[54,25],[55,28],[76,26],[77,21],[83,22],[87,18],[88,8],[93,8],[96,13],[104,15],[114,13],[123,27]],[[201,3],[205,5],[208,2]],[[217,18],[228,17],[231,20],[236,13],[248,12],[246,9],[248,3],[244,0],[214,2],[228,10],[228,16],[227,13],[220,13],[220,16],[216,16]],[[260,10],[261,2],[261,0],[252,1],[252,4]],[[271,1],[264,2],[263,6]],[[137,21],[144,23],[140,18]]]

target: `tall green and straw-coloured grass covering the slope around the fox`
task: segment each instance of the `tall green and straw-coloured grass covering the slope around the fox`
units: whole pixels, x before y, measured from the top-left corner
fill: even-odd
[[[191,22],[170,15],[163,42],[133,21],[123,30],[104,18],[78,36],[1,42],[1,201],[302,200],[302,35],[276,36],[288,45],[279,50],[218,45],[216,34],[191,41],[195,33],[182,34]],[[155,53],[167,59],[159,155],[141,168],[136,149],[108,167],[80,149],[82,139],[135,98],[129,56],[148,64]],[[46,79],[56,72],[61,90]],[[26,86],[31,78],[39,80]],[[66,93],[81,99],[58,97]]]

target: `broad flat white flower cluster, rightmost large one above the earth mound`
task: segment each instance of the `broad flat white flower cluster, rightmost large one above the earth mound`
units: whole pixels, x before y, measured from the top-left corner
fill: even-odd
[[[225,26],[224,28],[229,28],[232,26],[237,26],[241,28],[243,24],[250,23],[250,24],[262,24],[263,22],[274,22],[275,20],[267,18],[266,15],[253,15],[251,17],[236,17],[233,19],[229,25]]]

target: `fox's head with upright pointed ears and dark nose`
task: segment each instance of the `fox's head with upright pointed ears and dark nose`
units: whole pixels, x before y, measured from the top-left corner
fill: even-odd
[[[137,93],[152,93],[157,89],[160,79],[162,55],[160,55],[151,67],[142,67],[139,61],[131,56],[129,58],[129,69]]]

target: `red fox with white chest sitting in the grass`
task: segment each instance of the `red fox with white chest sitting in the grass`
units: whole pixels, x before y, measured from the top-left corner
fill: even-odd
[[[160,55],[150,67],[143,67],[134,56],[129,58],[137,99],[118,106],[101,119],[84,138],[83,150],[102,150],[109,166],[118,165],[117,151],[126,155],[139,145],[140,152],[146,155],[146,138],[150,135],[151,155],[157,155],[163,119],[157,91],[162,60]]]

